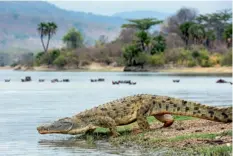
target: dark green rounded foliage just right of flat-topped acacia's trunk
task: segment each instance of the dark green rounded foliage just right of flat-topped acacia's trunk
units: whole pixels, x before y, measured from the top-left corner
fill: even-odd
[[[151,54],[156,54],[160,52],[164,52],[166,49],[166,41],[165,38],[162,35],[158,35],[153,38],[152,40],[152,49]]]

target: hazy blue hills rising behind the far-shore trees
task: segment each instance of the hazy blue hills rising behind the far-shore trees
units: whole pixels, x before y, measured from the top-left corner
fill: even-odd
[[[40,22],[57,23],[57,34],[51,40],[51,47],[61,47],[61,39],[71,27],[82,32],[87,44],[93,44],[100,35],[115,39],[126,18],[157,17],[166,15],[153,11],[134,11],[102,16],[92,13],[68,11],[43,1],[0,1],[0,52],[42,50],[37,25]]]

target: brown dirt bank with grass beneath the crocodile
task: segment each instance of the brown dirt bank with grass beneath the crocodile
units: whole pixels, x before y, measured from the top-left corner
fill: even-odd
[[[141,133],[137,132],[137,124],[131,126],[133,130],[127,131],[126,128],[126,131],[118,131],[121,134],[119,137],[110,137],[110,143],[125,148],[145,148],[155,152],[166,148],[168,153],[173,152],[175,155],[188,154],[188,152],[188,155],[211,155],[211,153],[230,155],[232,151],[232,123],[194,118],[175,121],[171,127],[161,128],[162,123],[153,122],[150,131]],[[101,134],[94,133],[94,138],[101,139]]]

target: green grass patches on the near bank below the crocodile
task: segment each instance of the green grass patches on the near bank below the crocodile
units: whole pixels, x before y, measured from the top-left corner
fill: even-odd
[[[197,118],[186,116],[174,116],[175,120],[194,120]],[[158,122],[154,117],[147,118],[150,124]],[[174,137],[164,136],[161,131],[142,132],[137,135],[131,134],[131,130],[137,124],[133,123],[126,126],[117,127],[117,131],[121,134],[117,138],[109,138],[109,130],[106,128],[97,128],[92,137],[86,136],[87,141],[92,144],[95,139],[108,139],[111,144],[115,146],[137,145],[142,148],[157,151],[165,148],[164,155],[203,155],[203,156],[230,156],[232,147],[226,144],[208,144],[202,142],[201,144],[192,143],[192,139],[214,141],[216,137],[232,136],[232,130],[226,130],[222,133],[191,133]],[[191,139],[191,140],[190,140]],[[190,146],[177,146],[182,141],[190,142]]]

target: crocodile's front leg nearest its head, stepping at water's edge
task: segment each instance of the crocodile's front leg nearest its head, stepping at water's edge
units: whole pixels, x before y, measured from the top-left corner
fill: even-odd
[[[107,116],[97,116],[95,125],[109,128],[110,132],[112,133],[113,137],[119,136],[117,132],[116,122],[110,117]]]

